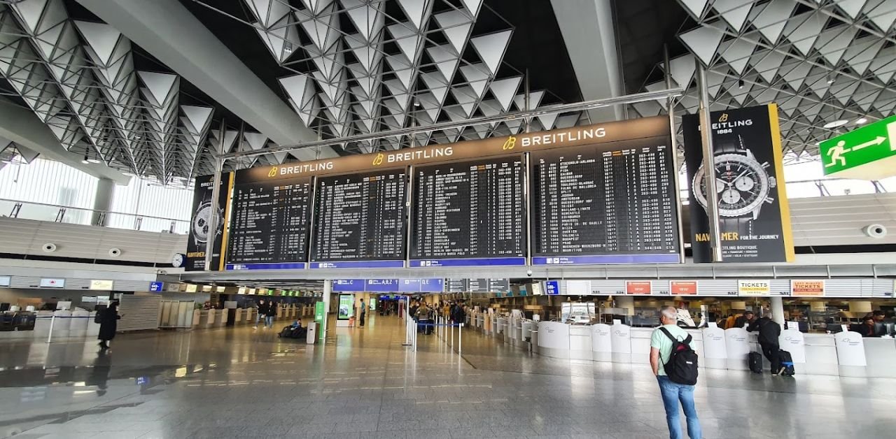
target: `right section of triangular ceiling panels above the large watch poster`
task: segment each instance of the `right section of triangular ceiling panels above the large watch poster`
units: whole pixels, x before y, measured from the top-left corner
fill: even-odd
[[[676,114],[698,107],[694,60],[707,70],[713,111],[771,102],[780,108],[786,157],[818,155],[835,130],[825,123],[874,122],[896,109],[896,1],[679,0],[696,22],[678,33],[687,52],[660,63],[687,89]],[[645,89],[664,89],[652,82]],[[655,102],[632,106],[664,113]],[[858,121],[858,122],[857,122]]]

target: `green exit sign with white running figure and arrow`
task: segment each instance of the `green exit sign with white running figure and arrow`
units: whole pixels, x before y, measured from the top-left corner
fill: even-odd
[[[824,174],[860,180],[896,175],[896,115],[818,146]]]

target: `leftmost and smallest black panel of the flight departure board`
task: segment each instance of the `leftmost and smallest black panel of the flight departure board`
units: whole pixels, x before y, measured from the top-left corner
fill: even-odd
[[[240,182],[233,188],[228,269],[305,268],[310,177]]]

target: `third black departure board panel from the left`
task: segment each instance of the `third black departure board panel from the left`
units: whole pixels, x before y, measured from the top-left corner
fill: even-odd
[[[411,266],[525,264],[522,156],[416,167],[413,202]]]

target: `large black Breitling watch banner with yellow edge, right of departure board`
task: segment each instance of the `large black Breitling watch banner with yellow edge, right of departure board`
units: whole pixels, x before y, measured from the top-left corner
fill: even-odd
[[[792,262],[778,106],[712,112],[710,119],[722,262]],[[686,114],[683,125],[694,262],[712,262],[699,115]]]

